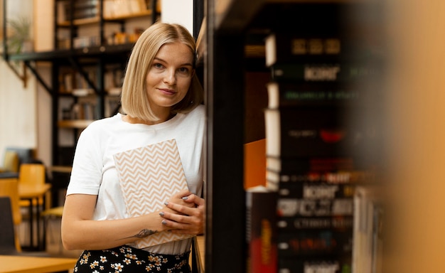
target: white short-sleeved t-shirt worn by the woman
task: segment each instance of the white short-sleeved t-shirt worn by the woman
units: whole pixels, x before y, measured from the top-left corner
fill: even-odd
[[[94,220],[128,218],[113,155],[129,149],[176,139],[188,189],[200,196],[203,188],[205,109],[200,105],[188,114],[176,114],[161,124],[130,124],[122,114],[92,122],[77,141],[68,185],[70,194],[97,196]],[[190,250],[191,240],[168,242],[146,248],[149,252],[180,254]]]

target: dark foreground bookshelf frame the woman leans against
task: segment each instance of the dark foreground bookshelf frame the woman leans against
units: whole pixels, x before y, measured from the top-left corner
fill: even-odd
[[[329,16],[333,7],[368,4],[353,0],[208,0],[205,33],[198,47],[204,63],[208,112],[207,272],[246,272],[243,144],[264,137],[250,134],[245,109],[252,102],[246,90],[267,75],[264,38],[280,26],[310,30],[310,23]],[[302,10],[313,21],[299,20]],[[377,28],[378,26],[376,26]],[[375,34],[375,33],[372,33]],[[253,77],[250,77],[252,76]],[[255,78],[257,77],[257,78]],[[266,92],[264,87],[260,92]],[[264,121],[264,117],[263,117]],[[222,267],[221,264],[229,264]]]

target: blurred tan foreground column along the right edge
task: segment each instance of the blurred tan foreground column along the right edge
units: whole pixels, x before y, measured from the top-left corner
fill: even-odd
[[[445,272],[445,1],[387,2],[385,272]]]

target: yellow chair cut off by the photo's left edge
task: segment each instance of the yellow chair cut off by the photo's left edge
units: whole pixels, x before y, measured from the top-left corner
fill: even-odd
[[[18,180],[17,178],[1,178],[0,179],[0,197],[7,196],[11,200],[12,218],[14,220],[14,228],[16,232],[16,250],[21,252],[20,240],[18,239],[18,225],[21,224],[21,211],[18,197]]]

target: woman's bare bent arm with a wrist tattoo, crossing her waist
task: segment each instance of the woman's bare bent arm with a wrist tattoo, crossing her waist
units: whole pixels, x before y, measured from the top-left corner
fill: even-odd
[[[168,203],[187,205],[181,199],[185,193],[190,194],[188,191],[178,193]],[[92,220],[96,200],[97,196],[86,194],[72,194],[66,197],[62,218],[62,241],[67,250],[104,250],[134,242],[169,229],[161,223],[161,211],[178,213],[167,208],[135,218]]]

